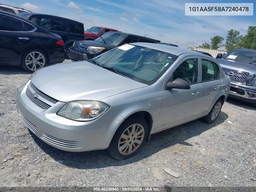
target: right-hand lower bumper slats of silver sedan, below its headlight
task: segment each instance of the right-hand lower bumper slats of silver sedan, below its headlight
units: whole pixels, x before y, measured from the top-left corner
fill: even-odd
[[[85,142],[67,141],[67,140],[58,139],[46,133],[42,134],[41,139],[53,145],[58,145],[59,147],[67,147],[67,148],[81,148],[85,144]]]

